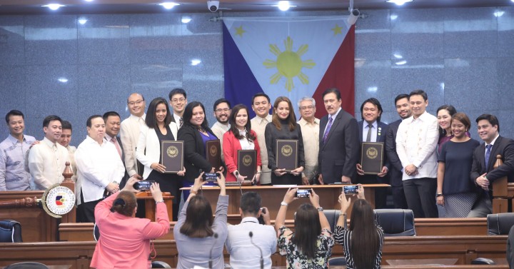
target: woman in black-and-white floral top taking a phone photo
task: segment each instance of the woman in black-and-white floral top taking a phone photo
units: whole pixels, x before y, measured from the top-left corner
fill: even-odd
[[[286,255],[287,268],[327,268],[334,240],[330,224],[319,205],[319,196],[311,189],[311,203],[303,203],[296,210],[295,231],[284,225],[288,205],[298,199],[298,188],[289,189],[284,196],[275,220],[278,250]]]

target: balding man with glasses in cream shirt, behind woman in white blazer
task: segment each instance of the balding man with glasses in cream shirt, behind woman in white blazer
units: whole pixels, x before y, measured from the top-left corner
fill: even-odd
[[[125,166],[129,176],[134,176],[137,173],[143,173],[138,169],[138,161],[136,159],[136,146],[139,139],[139,131],[141,126],[146,125],[144,112],[146,103],[141,93],[132,93],[127,99],[127,106],[131,116],[121,122],[120,126],[120,140],[121,145],[125,149]]]

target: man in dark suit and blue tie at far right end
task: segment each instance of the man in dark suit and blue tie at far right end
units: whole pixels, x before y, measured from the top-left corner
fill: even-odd
[[[478,135],[484,143],[473,152],[470,180],[483,190],[468,218],[481,218],[492,213],[491,183],[504,176],[507,176],[508,182],[514,182],[514,141],[500,136],[500,123],[493,115],[482,114],[476,118],[476,123]],[[503,165],[494,169],[498,155],[502,156]]]

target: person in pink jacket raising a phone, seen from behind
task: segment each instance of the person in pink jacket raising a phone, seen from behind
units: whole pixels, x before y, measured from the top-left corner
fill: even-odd
[[[170,224],[168,210],[163,203],[161,188],[153,183],[150,191],[156,201],[156,222],[148,218],[135,218],[137,193],[133,184],[136,178],[129,178],[125,188],[109,196],[95,208],[96,225],[101,236],[96,243],[91,267],[104,268],[151,268],[150,240],[168,233]]]

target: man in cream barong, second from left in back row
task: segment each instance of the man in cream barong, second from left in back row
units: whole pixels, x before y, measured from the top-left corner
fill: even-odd
[[[62,123],[59,116],[47,116],[43,120],[43,141],[29,150],[29,172],[34,180],[35,190],[46,190],[64,180],[62,173],[69,161],[68,150],[61,146]]]

